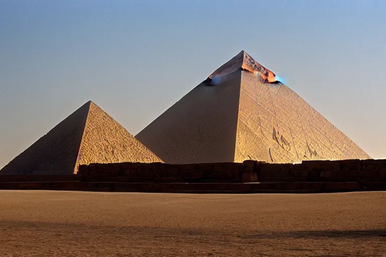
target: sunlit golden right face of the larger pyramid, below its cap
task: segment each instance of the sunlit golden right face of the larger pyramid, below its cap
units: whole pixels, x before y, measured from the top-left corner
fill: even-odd
[[[241,72],[235,161],[270,163],[370,157],[286,85]]]

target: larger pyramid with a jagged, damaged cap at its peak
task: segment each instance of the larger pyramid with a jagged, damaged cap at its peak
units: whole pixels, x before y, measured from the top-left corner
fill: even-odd
[[[241,51],[136,138],[166,163],[370,157]]]

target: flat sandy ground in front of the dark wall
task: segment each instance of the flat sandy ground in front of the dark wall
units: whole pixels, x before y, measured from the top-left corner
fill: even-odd
[[[0,256],[386,256],[386,192],[0,191]]]

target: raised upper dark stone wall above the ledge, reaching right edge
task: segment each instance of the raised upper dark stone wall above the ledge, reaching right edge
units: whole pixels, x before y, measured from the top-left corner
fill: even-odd
[[[256,161],[171,165],[116,163],[79,166],[94,181],[164,183],[240,182],[385,182],[386,160],[303,161],[270,164]]]

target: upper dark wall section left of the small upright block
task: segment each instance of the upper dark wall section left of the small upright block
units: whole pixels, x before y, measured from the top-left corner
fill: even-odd
[[[241,163],[114,163],[80,165],[78,174],[94,181],[240,183],[246,169]]]

